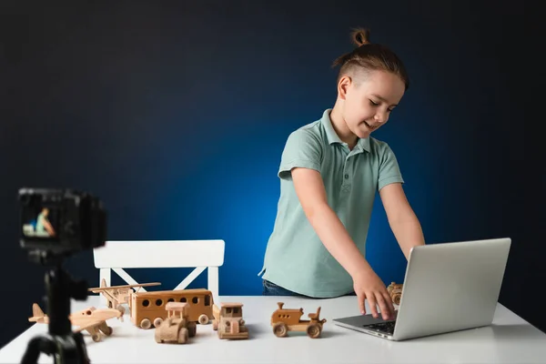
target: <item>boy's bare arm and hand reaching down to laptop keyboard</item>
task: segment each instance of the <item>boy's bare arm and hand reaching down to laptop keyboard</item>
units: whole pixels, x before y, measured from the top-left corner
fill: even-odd
[[[373,317],[379,317],[376,308],[379,305],[383,319],[392,319],[394,307],[387,288],[362,256],[339,217],[329,207],[319,171],[297,167],[291,170],[291,174],[299,202],[311,226],[329,253],[353,278],[360,311],[366,313],[364,301],[368,299]]]

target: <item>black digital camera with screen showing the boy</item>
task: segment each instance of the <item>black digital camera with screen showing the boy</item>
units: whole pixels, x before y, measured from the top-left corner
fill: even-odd
[[[68,256],[106,242],[102,202],[73,189],[19,189],[20,242],[29,251]]]

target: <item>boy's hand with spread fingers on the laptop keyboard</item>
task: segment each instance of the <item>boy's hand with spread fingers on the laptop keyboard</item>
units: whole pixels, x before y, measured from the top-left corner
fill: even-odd
[[[389,292],[371,268],[360,271],[357,276],[353,277],[353,282],[355,293],[359,299],[360,312],[363,315],[366,314],[364,302],[365,299],[368,299],[371,315],[375,319],[379,318],[377,306],[380,308],[383,319],[394,319],[394,306]]]

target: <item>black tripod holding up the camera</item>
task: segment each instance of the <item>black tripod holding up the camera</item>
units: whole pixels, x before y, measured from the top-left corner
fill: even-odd
[[[40,260],[43,258],[39,257]],[[86,282],[72,280],[62,268],[62,261],[57,258],[54,267],[45,272],[45,288],[48,333],[30,339],[21,364],[37,363],[41,353],[53,355],[55,364],[89,364],[84,338],[80,332],[72,332],[68,319],[70,298],[85,300],[87,297]]]

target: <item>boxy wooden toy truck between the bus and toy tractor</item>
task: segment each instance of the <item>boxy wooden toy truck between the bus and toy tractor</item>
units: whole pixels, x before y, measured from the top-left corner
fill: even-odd
[[[248,329],[243,319],[242,303],[222,303],[218,310],[213,308],[215,319],[212,329],[218,331],[220,339],[248,339]]]

